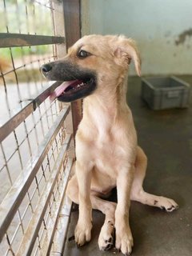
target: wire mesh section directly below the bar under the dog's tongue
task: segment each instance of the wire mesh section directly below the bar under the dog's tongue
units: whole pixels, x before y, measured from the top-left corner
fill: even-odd
[[[47,99],[0,143],[0,179],[4,181],[0,202],[57,119],[61,110],[58,105],[61,106],[56,101],[50,104]],[[62,136],[64,133],[65,130]],[[15,165],[15,162],[18,164]]]

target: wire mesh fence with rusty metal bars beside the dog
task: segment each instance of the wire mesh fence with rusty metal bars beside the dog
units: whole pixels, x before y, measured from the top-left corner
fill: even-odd
[[[54,43],[65,49],[57,29],[61,16],[58,0],[0,1],[1,255],[62,248],[57,235],[59,225],[65,234],[70,215],[65,191],[74,156],[72,120],[69,105],[48,98],[58,82],[39,72],[58,58]]]

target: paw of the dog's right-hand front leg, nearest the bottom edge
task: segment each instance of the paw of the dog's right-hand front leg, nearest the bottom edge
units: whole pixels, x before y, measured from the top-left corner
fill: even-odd
[[[126,229],[118,230],[118,228],[116,227],[116,249],[121,250],[122,254],[130,255],[133,246],[134,240],[130,228],[127,227]]]

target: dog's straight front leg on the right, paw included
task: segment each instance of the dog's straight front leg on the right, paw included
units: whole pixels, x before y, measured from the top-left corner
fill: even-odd
[[[117,178],[118,205],[115,211],[115,247],[122,251],[122,254],[129,255],[134,245],[130,231],[130,189],[134,177],[134,166],[123,167]]]

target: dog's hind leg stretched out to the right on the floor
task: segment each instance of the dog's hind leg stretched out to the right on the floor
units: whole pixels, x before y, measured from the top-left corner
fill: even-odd
[[[146,175],[147,158],[143,150],[138,147],[138,154],[135,162],[134,182],[132,185],[130,199],[149,206],[156,206],[171,212],[178,208],[178,204],[173,199],[164,198],[154,194],[146,193],[143,190],[142,183]]]

